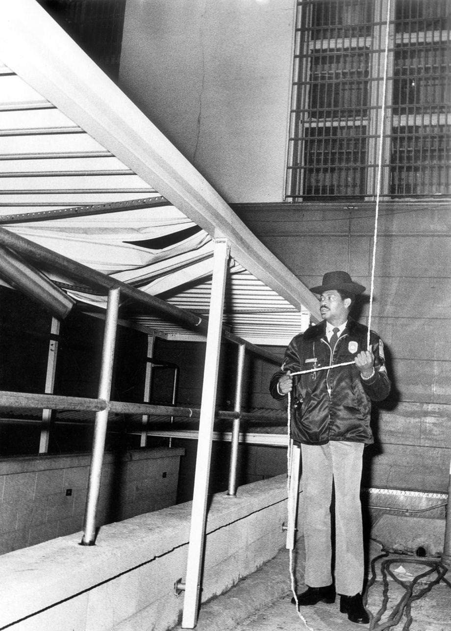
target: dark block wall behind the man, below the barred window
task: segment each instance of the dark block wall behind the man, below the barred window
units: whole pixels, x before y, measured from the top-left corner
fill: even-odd
[[[349,271],[369,295],[374,204],[242,204],[257,237],[307,285]],[[385,344],[392,392],[375,406],[367,485],[447,490],[451,456],[450,204],[383,203],[378,218],[371,327]],[[368,298],[354,317],[368,322]],[[273,349],[281,350],[281,349]],[[263,365],[262,382],[272,367]],[[266,394],[261,389],[262,401]],[[268,399],[266,398],[266,401]]]

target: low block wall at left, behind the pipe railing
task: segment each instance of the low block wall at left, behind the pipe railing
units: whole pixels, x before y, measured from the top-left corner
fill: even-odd
[[[97,524],[175,504],[183,449],[143,449],[103,459]],[[83,527],[91,457],[0,459],[0,553]]]

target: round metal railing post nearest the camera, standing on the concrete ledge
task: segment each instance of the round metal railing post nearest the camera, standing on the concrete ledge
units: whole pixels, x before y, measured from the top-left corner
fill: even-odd
[[[117,333],[117,314],[119,311],[119,288],[108,292],[107,316],[103,333],[102,366],[98,398],[109,403],[111,382],[113,376],[114,347]],[[97,512],[98,495],[100,492],[100,478],[102,477],[103,452],[105,451],[105,436],[107,435],[108,406],[95,415],[94,440],[91,456],[90,475],[88,480],[88,496],[86,498],[85,523],[81,544],[93,546],[95,544],[95,517]]]

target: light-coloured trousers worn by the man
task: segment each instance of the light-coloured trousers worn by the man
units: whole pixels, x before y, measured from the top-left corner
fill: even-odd
[[[305,584],[332,581],[331,500],[335,487],[335,587],[354,596],[363,587],[363,528],[360,481],[363,443],[333,440],[301,445],[304,505]]]

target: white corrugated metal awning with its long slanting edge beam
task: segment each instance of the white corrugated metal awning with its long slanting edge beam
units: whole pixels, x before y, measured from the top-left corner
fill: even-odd
[[[91,268],[208,314],[213,239],[230,242],[224,322],[284,345],[317,300],[119,88],[30,0],[0,20],[0,223]],[[77,300],[105,307],[67,279]],[[196,338],[129,314],[168,338]]]

